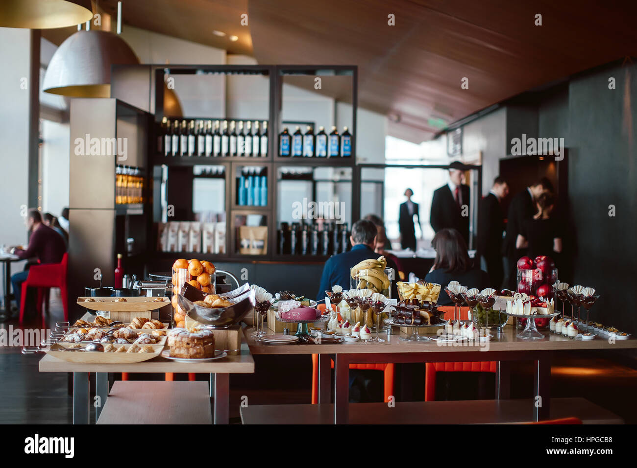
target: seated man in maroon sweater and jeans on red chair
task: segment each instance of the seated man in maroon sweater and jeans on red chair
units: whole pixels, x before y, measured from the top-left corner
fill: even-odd
[[[20,259],[32,259],[36,257],[41,264],[60,263],[64,252],[66,252],[64,240],[62,240],[60,234],[42,222],[42,216],[37,209],[29,209],[27,228],[31,231],[29,246],[26,250],[16,248],[13,250],[13,253],[20,257]],[[15,303],[18,306],[18,310],[20,310],[22,283],[27,279],[27,276],[29,276],[28,270],[11,276],[13,295],[15,296]]]

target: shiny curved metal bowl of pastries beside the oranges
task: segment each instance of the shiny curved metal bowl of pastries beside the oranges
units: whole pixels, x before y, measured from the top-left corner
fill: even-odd
[[[196,306],[193,302],[203,301],[208,294],[201,292],[188,283],[182,287],[180,293],[177,296],[177,302],[183,311],[193,320],[216,329],[225,329],[240,322],[255,305],[254,290],[250,288],[248,283],[220,295],[220,297],[226,297],[233,302],[233,304],[224,308],[209,309]]]

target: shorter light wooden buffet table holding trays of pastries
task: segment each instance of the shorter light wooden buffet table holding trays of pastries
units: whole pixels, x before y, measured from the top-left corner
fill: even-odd
[[[86,314],[83,320],[92,320],[94,316]],[[214,397],[214,423],[228,423],[229,374],[251,374],[254,372],[254,360],[243,338],[240,351],[228,352],[227,357],[210,362],[184,364],[156,357],[132,364],[79,364],[67,362],[45,355],[39,362],[40,372],[73,372],[73,423],[89,423],[89,372],[96,373],[96,395],[101,405],[96,408],[96,422],[108,398],[108,374],[112,372],[163,373],[195,372],[210,374],[210,397]],[[197,383],[197,382],[192,382]],[[152,385],[152,383],[148,382]],[[157,382],[161,384],[161,382]]]

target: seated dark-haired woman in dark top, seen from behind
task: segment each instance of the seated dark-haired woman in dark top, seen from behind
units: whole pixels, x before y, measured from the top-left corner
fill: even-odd
[[[468,289],[483,290],[489,287],[489,275],[486,271],[473,267],[473,261],[469,259],[467,245],[460,232],[455,229],[441,229],[434,236],[431,245],[436,250],[436,260],[431,271],[425,276],[425,281],[442,286],[438,297],[439,306],[454,304],[445,292],[449,281],[458,281]]]

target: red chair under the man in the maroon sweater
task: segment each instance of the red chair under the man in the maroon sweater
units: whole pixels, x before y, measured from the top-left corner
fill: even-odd
[[[32,265],[29,268],[29,276],[22,283],[22,301],[20,301],[20,323],[24,321],[24,306],[27,302],[28,288],[38,288],[38,300],[36,308],[44,323],[44,313],[42,303],[44,301],[44,291],[47,288],[60,288],[62,295],[62,308],[64,308],[64,320],[69,320],[68,311],[68,290],[66,289],[66,272],[68,270],[69,254],[64,253],[61,263],[48,263],[43,265]]]

